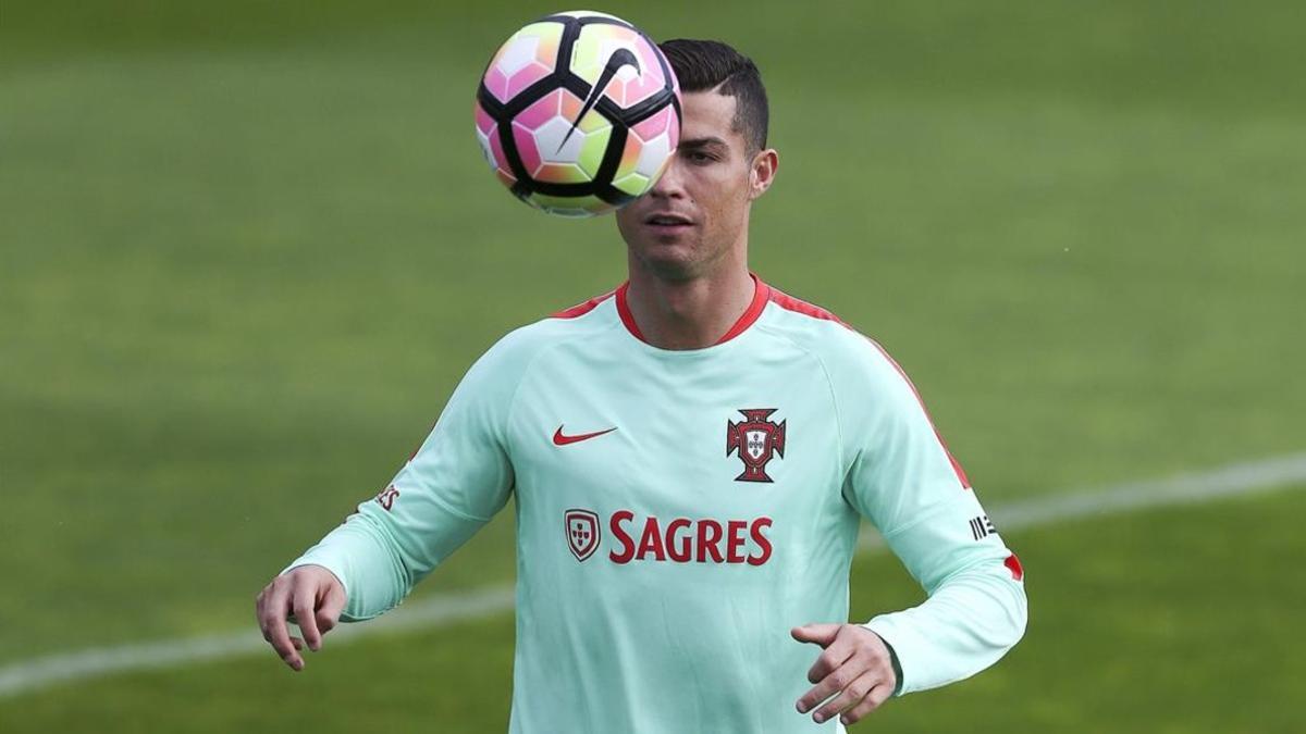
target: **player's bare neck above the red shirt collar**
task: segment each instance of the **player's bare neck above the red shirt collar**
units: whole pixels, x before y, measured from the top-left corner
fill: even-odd
[[[703,349],[717,343],[752,303],[755,283],[746,263],[722,263],[684,281],[631,268],[626,302],[644,341],[658,349]]]

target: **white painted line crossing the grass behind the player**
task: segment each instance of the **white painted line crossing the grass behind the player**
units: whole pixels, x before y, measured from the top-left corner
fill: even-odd
[[[1208,471],[1168,479],[1130,482],[1097,491],[1076,491],[1050,498],[995,505],[989,515],[1003,530],[1049,525],[1077,517],[1132,512],[1169,504],[1192,504],[1232,495],[1266,492],[1306,481],[1306,453],[1262,461],[1229,464]],[[859,550],[882,547],[879,535],[862,535]],[[367,624],[346,624],[330,633],[332,646],[374,633],[440,627],[500,614],[513,606],[511,585],[488,586],[458,596],[438,596],[405,605]],[[91,648],[14,662],[0,667],[0,697],[39,691],[59,683],[101,678],[133,670],[172,667],[263,653],[268,644],[255,630]],[[270,652],[270,650],[269,650]]]

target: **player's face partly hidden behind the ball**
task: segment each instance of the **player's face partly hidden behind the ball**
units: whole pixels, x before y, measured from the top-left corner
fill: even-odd
[[[734,97],[691,91],[682,103],[680,144],[666,172],[616,212],[631,256],[678,281],[710,272],[747,246],[748,205],[771,184],[776,162],[773,150],[750,155],[733,129]]]

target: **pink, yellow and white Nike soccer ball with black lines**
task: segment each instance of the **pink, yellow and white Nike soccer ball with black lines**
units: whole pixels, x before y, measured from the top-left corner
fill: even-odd
[[[644,195],[666,170],[680,138],[680,86],[637,27],[572,10],[499,48],[475,114],[486,161],[517,199],[590,217]]]

